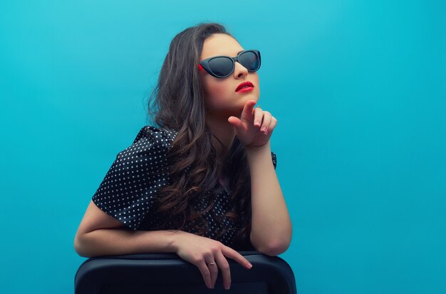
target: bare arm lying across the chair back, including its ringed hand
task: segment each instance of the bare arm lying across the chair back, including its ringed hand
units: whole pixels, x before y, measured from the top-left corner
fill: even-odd
[[[83,257],[175,252],[202,273],[208,288],[214,288],[219,269],[223,283],[231,285],[227,257],[245,268],[251,268],[247,258],[219,241],[184,231],[132,231],[117,219],[100,210],[93,201],[88,205],[74,239],[76,252]],[[217,266],[209,268],[207,263]]]

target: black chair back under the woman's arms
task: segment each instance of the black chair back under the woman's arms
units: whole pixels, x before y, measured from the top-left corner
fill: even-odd
[[[224,290],[219,271],[214,289],[204,284],[202,274],[177,254],[130,254],[88,258],[76,272],[76,294],[152,293],[244,293],[296,294],[294,273],[279,256],[258,251],[239,251],[251,269],[227,258],[231,288]]]

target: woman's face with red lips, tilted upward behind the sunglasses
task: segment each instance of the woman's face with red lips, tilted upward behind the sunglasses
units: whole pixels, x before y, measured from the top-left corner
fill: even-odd
[[[204,40],[200,61],[216,55],[227,55],[236,57],[239,51],[244,50],[242,46],[224,33],[214,33]],[[239,62],[235,62],[235,69],[229,77],[212,77],[205,70],[199,72],[204,92],[204,103],[207,114],[222,116],[227,119],[229,116],[239,117],[242,114],[244,104],[251,99],[259,100],[259,76],[257,72],[248,72],[247,68]],[[254,89],[249,92],[235,92],[240,83],[249,81],[254,85]]]

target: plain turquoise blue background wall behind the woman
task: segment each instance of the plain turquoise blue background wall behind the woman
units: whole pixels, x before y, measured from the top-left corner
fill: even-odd
[[[274,4],[2,1],[2,293],[73,292],[88,202],[202,21],[261,50],[299,293],[445,293],[445,2]]]

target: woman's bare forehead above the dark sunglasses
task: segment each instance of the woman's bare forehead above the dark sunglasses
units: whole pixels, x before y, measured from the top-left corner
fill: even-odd
[[[204,40],[200,60],[216,55],[237,56],[244,50],[243,47],[231,36],[224,33],[214,33]]]

